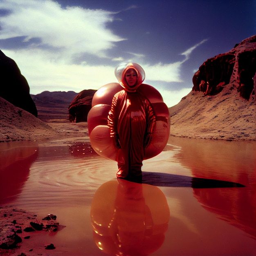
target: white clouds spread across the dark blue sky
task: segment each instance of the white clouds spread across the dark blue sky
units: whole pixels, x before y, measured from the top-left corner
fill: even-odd
[[[81,7],[63,9],[52,0],[1,0],[0,8],[11,11],[8,15],[0,17],[0,39],[23,36],[23,41],[29,42],[31,38],[40,38],[37,43],[30,44],[24,49],[2,47],[4,54],[18,64],[29,83],[31,94],[38,94],[44,90],[80,92],[117,82],[114,75],[115,67],[89,65],[86,58],[81,60],[80,65],[72,62],[72,57],[81,54],[90,54],[97,58],[108,57],[106,51],[114,47],[116,42],[125,40],[106,29],[107,24],[114,20],[114,12]],[[131,6],[126,10],[133,8],[137,7]],[[141,59],[146,80],[182,82],[182,64],[191,52],[206,40],[183,52],[185,59],[175,63],[159,62],[150,65],[143,63],[144,54],[130,54]],[[125,58],[119,55],[120,52],[117,51],[116,54],[119,57],[112,58],[112,61],[124,61]],[[177,104],[189,90],[163,90],[160,93],[170,107]]]

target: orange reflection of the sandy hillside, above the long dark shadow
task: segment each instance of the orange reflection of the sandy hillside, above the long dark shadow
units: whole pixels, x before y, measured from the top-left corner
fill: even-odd
[[[174,159],[191,169],[193,177],[256,184],[255,141],[209,141],[172,138],[180,146]]]

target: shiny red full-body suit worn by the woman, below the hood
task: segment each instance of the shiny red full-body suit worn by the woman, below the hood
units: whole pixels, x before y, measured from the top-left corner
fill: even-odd
[[[140,176],[145,148],[155,127],[150,102],[139,92],[117,92],[108,115],[110,136],[117,147],[117,177]]]

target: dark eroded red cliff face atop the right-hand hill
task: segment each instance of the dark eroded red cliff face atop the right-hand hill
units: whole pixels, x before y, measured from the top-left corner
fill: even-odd
[[[256,35],[236,44],[231,51],[205,61],[193,76],[193,91],[216,95],[229,84],[240,97],[255,101]]]

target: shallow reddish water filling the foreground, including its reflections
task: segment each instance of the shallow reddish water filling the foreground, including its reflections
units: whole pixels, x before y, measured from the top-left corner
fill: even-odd
[[[172,137],[136,184],[118,182],[117,163],[86,144],[2,143],[0,205],[65,226],[31,235],[33,252],[24,241],[17,254],[256,255],[255,156],[255,142]]]

